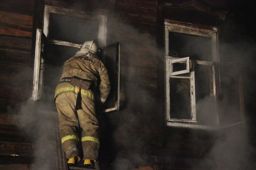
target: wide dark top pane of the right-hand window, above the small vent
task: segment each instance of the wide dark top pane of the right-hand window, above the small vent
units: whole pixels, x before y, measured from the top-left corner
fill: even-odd
[[[169,32],[169,56],[212,61],[211,38]]]

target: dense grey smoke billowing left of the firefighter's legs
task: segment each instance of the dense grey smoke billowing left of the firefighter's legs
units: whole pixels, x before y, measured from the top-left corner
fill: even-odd
[[[47,102],[28,100],[20,109],[17,126],[34,143],[31,169],[55,169],[57,149],[57,115]]]

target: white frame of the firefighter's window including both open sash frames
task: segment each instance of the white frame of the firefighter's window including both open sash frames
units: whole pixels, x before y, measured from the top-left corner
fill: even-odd
[[[40,100],[43,91],[43,71],[44,71],[44,58],[42,57],[43,44],[42,42],[46,41],[46,37],[49,33],[49,19],[50,14],[60,14],[60,15],[68,15],[72,17],[79,17],[83,19],[97,20],[98,21],[98,35],[97,35],[97,44],[100,48],[104,48],[104,50],[108,50],[110,48],[114,48],[113,46],[107,46],[107,15],[102,13],[90,13],[84,11],[76,11],[67,8],[60,8],[56,6],[44,5],[44,15],[43,15],[43,30],[37,29],[36,33],[36,51],[35,51],[35,61],[34,61],[34,78],[33,78],[33,90],[31,99],[36,101]],[[43,41],[43,39],[45,39]],[[63,46],[71,46],[76,48],[81,48],[83,44],[72,43],[66,41],[52,40],[47,39],[48,44],[55,45],[63,45]],[[117,77],[116,91],[115,91],[115,107],[106,109],[105,112],[119,110],[119,56],[120,56],[120,44],[114,43],[116,47],[116,71],[115,77]],[[112,45],[112,44],[111,44]],[[104,56],[103,56],[104,57]],[[115,82],[116,83],[116,82]]]

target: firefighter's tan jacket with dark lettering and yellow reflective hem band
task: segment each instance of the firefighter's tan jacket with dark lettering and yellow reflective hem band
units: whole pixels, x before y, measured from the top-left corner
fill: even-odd
[[[83,50],[78,51],[73,57],[68,59],[63,66],[60,80],[64,77],[77,76],[81,79],[93,80],[97,84],[97,76],[100,77],[99,91],[101,102],[105,102],[110,91],[110,81],[107,69],[94,53]],[[78,87],[68,82],[59,83],[55,89],[55,99],[61,93],[78,93]],[[90,90],[81,90],[81,95],[94,101],[93,93]]]

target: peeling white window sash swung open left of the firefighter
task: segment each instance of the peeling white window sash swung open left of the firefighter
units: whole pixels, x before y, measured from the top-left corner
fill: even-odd
[[[34,61],[34,78],[31,99],[40,99],[43,91],[44,58],[46,55],[47,39],[41,29],[36,30],[36,48]]]

